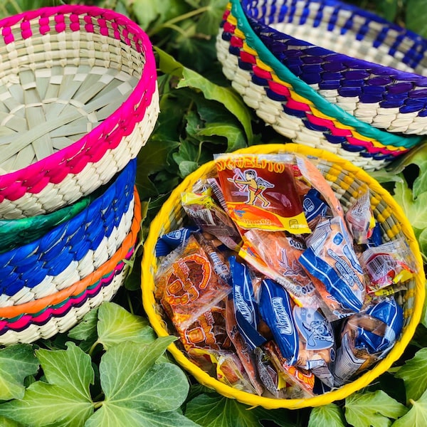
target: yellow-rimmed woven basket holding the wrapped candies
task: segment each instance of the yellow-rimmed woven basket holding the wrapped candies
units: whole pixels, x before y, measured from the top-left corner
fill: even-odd
[[[310,399],[271,399],[239,391],[230,386],[226,386],[202,371],[199,367],[190,362],[175,344],[169,346],[169,352],[172,353],[176,361],[179,362],[184,369],[189,371],[201,384],[215,389],[223,396],[237,399],[250,406],[295,409],[307,406],[326,405],[330,404],[332,401],[344,399],[346,396],[349,396],[349,394],[362,389],[362,387],[374,381],[377,376],[384,373],[391,367],[391,364],[401,357],[421,317],[425,293],[425,278],[421,254],[411,225],[404,216],[400,206],[396,204],[393,197],[384,190],[378,182],[372,179],[359,167],[322,149],[312,149],[300,144],[268,144],[255,145],[248,149],[239,150],[241,153],[262,154],[277,153],[280,151],[295,152],[306,156],[310,155],[311,157],[317,157],[317,168],[320,169],[320,172],[322,172],[323,176],[325,176],[332,186],[332,189],[334,189],[344,209],[354,201],[354,197],[357,197],[360,186],[369,186],[369,190],[371,191],[371,206],[374,210],[376,221],[379,221],[381,224],[384,241],[404,236],[411,246],[419,269],[416,278],[408,283],[408,290],[400,297],[404,307],[404,330],[388,356],[376,364],[372,369],[362,374],[362,376],[352,381],[352,383],[320,396],[315,396]],[[149,322],[159,336],[173,334],[174,332],[166,329],[166,322],[162,319],[162,309],[154,298],[154,290],[156,287],[154,283],[154,274],[157,270],[157,259],[154,256],[154,247],[159,236],[179,228],[182,225],[185,213],[180,204],[181,193],[189,191],[198,179],[201,179],[214,170],[216,170],[214,162],[209,162],[184,179],[184,181],[172,192],[169,199],[162,206],[162,209],[160,209],[157,217],[152,221],[149,235],[144,244],[144,255],[142,258],[142,300]]]

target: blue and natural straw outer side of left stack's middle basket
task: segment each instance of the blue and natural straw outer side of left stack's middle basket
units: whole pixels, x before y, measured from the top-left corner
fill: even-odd
[[[134,216],[136,162],[133,159],[80,214],[36,241],[0,254],[0,307],[67,288],[117,251]]]

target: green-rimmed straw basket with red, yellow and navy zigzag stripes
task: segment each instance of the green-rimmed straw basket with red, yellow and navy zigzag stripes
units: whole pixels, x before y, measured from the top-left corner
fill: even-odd
[[[361,122],[328,102],[275,58],[231,0],[216,50],[223,73],[256,114],[293,142],[325,148],[367,170],[380,169],[421,142]]]

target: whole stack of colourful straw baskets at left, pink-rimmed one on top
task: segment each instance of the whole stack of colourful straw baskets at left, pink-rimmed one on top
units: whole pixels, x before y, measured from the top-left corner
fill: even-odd
[[[0,344],[110,300],[141,221],[137,154],[159,112],[147,35],[90,6],[0,21]]]

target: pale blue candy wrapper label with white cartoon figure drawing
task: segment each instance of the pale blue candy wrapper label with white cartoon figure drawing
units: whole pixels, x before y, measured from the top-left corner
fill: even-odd
[[[334,335],[330,322],[320,312],[295,305],[293,315],[295,325],[305,339],[307,350],[322,350],[332,347]]]

